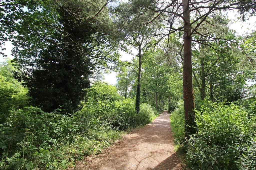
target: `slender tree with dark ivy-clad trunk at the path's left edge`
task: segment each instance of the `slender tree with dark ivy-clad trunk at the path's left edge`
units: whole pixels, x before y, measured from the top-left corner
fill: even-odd
[[[126,46],[130,46],[137,50],[137,54],[132,54],[138,57],[137,67],[137,92],[135,108],[136,112],[140,111],[140,97],[141,97],[141,65],[142,56],[153,44],[153,35],[155,35],[159,24],[155,21],[154,24],[141,26],[142,22],[148,21],[152,18],[152,14],[143,11],[143,8],[148,8],[151,5],[150,1],[130,1],[128,3],[121,3],[117,8],[119,11],[120,27],[124,27],[124,43],[123,50],[129,54],[131,50]]]

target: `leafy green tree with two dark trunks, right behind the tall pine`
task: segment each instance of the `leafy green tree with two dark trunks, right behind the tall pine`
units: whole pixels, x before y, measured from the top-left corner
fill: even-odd
[[[205,34],[205,32],[211,33],[215,37],[222,37],[222,39],[210,41],[209,37],[194,35],[195,39],[204,40],[207,45],[193,44],[193,76],[200,91],[200,99],[205,99],[206,88],[208,88],[210,89],[210,99],[213,101],[213,85],[218,82],[218,80],[213,81],[213,77],[225,74],[228,71],[224,71],[224,69],[217,71],[216,67],[230,68],[229,65],[236,60],[233,57],[234,53],[232,51],[237,50],[235,49],[235,35],[232,30],[228,28],[228,20],[219,14],[214,16],[214,18],[209,18],[208,21],[211,21],[216,27],[212,27],[212,25],[207,22],[202,23],[203,26],[199,27],[202,28],[200,32],[203,32],[203,34]],[[211,77],[210,81],[209,77]],[[210,87],[208,87],[207,84],[210,85]]]

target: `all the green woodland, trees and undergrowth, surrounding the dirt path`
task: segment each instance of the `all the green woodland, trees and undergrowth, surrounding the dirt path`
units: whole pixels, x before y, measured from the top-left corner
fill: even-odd
[[[0,9],[1,169],[75,167],[163,110],[186,169],[256,168],[255,21],[240,35],[228,15],[255,17],[255,1],[3,0]]]

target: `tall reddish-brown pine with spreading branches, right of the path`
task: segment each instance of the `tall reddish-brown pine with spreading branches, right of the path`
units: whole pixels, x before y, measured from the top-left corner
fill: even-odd
[[[204,40],[192,39],[193,34],[199,34],[204,37],[210,37],[211,40],[221,39],[221,37],[214,37],[211,34],[200,33],[199,26],[203,22],[210,23],[207,18],[215,15],[215,11],[226,9],[245,9],[242,11],[255,11],[255,3],[248,3],[251,1],[212,1],[206,0],[198,1],[157,1],[150,9],[155,15],[154,19],[162,16],[168,25],[168,32],[160,33],[159,35],[168,36],[176,31],[183,31],[183,97],[185,110],[185,136],[196,132],[196,122],[194,114],[194,95],[192,86],[192,65],[191,65],[191,43],[197,42],[206,44]],[[249,6],[251,8],[249,8]],[[182,7],[182,9],[180,9]],[[253,14],[253,12],[251,12]],[[190,17],[190,15],[193,15]],[[153,19],[153,20],[154,20]],[[183,26],[180,25],[180,19],[183,21]],[[151,21],[153,21],[151,20]],[[144,22],[148,24],[151,21]],[[192,27],[193,25],[193,27]],[[212,25],[214,26],[214,24]],[[165,28],[166,29],[166,28]],[[207,44],[206,44],[207,45]],[[168,45],[167,45],[168,46]]]

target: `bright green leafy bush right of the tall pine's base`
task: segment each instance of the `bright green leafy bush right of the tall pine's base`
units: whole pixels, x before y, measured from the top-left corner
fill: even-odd
[[[255,139],[255,116],[242,107],[205,102],[196,112],[198,133],[187,142],[187,166],[191,169],[250,169]]]

